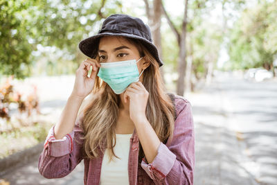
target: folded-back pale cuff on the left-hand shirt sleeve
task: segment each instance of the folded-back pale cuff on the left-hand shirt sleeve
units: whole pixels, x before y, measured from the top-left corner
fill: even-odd
[[[62,139],[55,139],[53,125],[48,132],[46,141],[44,142],[44,149],[48,149],[47,154],[53,157],[61,157],[69,154],[73,150],[74,132],[66,134]]]

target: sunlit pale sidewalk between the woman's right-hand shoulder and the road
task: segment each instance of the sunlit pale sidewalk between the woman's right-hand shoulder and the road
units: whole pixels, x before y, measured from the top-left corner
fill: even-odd
[[[240,133],[229,127],[229,100],[217,83],[185,98],[193,107],[195,123],[195,185],[258,184],[253,177],[255,163],[244,155]],[[252,166],[253,171],[246,166]]]

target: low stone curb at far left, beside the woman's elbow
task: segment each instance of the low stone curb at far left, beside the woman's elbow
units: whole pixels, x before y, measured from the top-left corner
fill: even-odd
[[[34,159],[37,160],[38,163],[38,157],[43,147],[44,141],[26,150],[16,152],[15,154],[0,159],[0,177],[6,173],[12,172],[15,168],[19,168],[28,164],[30,161],[34,161]]]

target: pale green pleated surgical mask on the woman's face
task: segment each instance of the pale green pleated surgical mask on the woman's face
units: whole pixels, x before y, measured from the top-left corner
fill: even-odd
[[[141,58],[139,59],[141,60]],[[115,94],[121,94],[127,89],[132,82],[139,82],[139,69],[136,60],[125,60],[120,62],[101,62],[101,67],[97,76],[104,82],[107,82],[109,87]]]

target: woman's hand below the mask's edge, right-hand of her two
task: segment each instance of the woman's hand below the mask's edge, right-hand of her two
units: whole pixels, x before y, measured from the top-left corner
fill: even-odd
[[[141,118],[145,118],[148,96],[148,91],[140,81],[132,82],[125,90],[124,101],[127,103],[129,99],[129,116],[134,123],[141,120]]]

